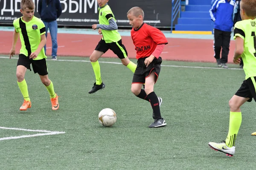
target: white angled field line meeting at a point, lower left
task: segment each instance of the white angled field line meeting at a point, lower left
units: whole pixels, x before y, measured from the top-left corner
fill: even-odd
[[[23,136],[9,136],[0,138],[0,141],[2,140],[8,140],[8,139],[20,139],[20,138],[29,138],[29,137],[35,137],[35,136],[45,136],[45,135],[57,135],[65,132],[58,132],[58,131],[49,131],[49,130],[31,130],[31,129],[21,129],[21,128],[13,128],[13,127],[0,127],[0,129],[9,129],[9,130],[22,130],[22,131],[29,131],[29,132],[44,132],[44,133],[37,133],[33,135],[23,135]]]

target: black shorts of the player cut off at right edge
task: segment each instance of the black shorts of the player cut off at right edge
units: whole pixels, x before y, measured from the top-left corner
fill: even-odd
[[[243,84],[236,92],[236,96],[250,98],[247,102],[251,102],[252,99],[256,102],[256,77],[250,77],[247,80],[244,80]]]

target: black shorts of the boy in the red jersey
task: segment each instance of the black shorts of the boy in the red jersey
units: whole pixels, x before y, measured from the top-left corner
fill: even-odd
[[[162,58],[159,57],[158,59],[153,59],[153,61],[146,67],[144,61],[148,57],[140,58],[137,61],[137,68],[134,72],[134,77],[132,79],[132,84],[134,83],[140,83],[144,84],[145,79],[151,74],[154,73],[157,77],[155,82],[157,82],[158,76],[160,74],[161,70],[161,63],[162,63]]]

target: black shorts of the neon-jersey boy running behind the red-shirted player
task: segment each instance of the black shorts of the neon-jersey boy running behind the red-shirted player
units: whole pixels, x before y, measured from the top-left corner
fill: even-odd
[[[127,57],[128,53],[125,49],[125,45],[122,44],[122,39],[118,42],[106,43],[105,40],[100,40],[95,50],[102,51],[103,53],[111,49],[119,59],[124,59]]]

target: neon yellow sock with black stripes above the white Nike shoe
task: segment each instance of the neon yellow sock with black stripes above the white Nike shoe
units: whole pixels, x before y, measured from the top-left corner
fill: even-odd
[[[227,139],[225,140],[228,147],[235,146],[236,136],[242,122],[241,112],[230,112],[230,125],[228,130]]]

